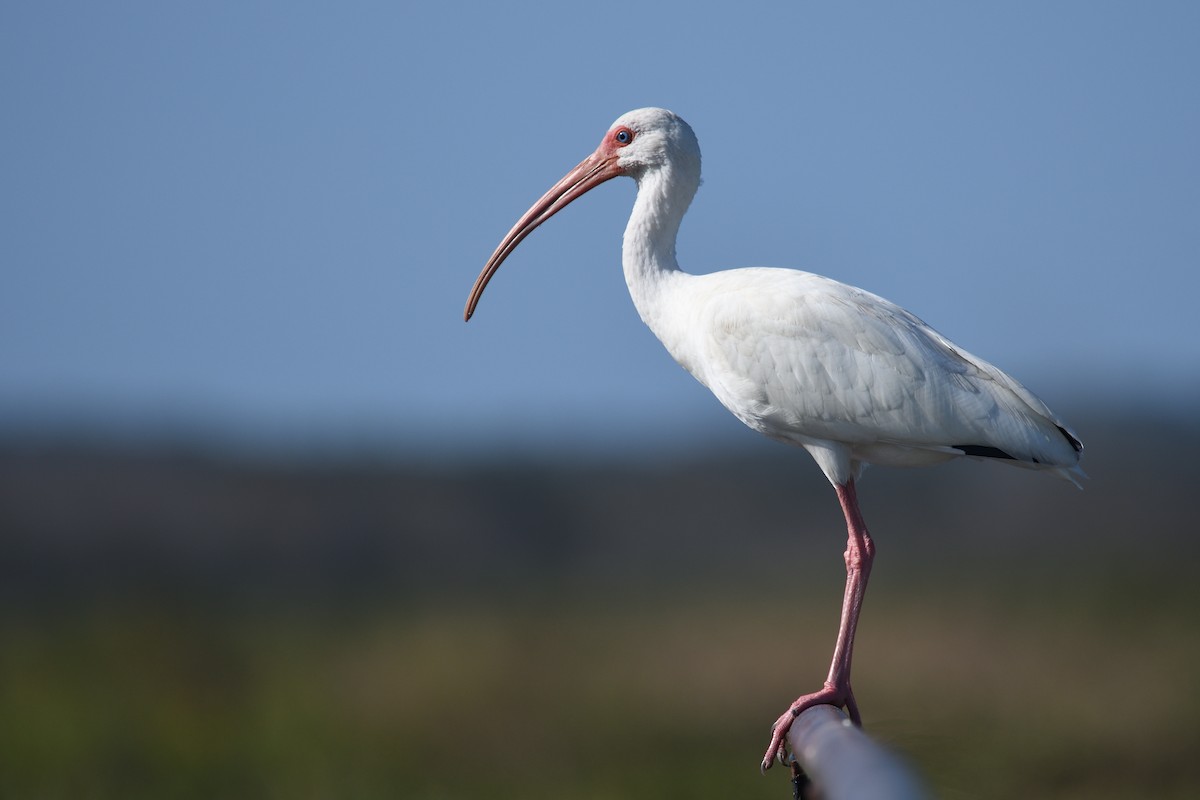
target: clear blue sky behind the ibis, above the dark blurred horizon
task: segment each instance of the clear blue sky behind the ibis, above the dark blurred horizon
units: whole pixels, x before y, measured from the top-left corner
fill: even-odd
[[[114,8],[0,7],[0,423],[743,435],[629,301],[631,181],[461,319],[641,106],[700,137],[686,269],[864,287],[1063,411],[1200,393],[1196,4]]]

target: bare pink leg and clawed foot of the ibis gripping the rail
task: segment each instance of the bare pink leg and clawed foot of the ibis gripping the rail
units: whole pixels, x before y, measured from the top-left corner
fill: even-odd
[[[784,738],[796,717],[814,705],[836,705],[845,708],[854,724],[862,724],[854,692],[850,688],[850,662],[854,655],[854,628],[858,627],[858,613],[863,608],[863,595],[866,593],[866,579],[871,575],[871,561],[875,560],[875,542],[866,531],[866,523],[858,510],[858,494],[854,481],[835,486],[841,511],[846,515],[846,594],[841,601],[841,624],[838,627],[838,644],[833,650],[833,663],[829,664],[829,676],[824,687],[811,694],[798,697],[784,716],[775,721],[772,729],[770,746],[762,759],[762,770],[770,769],[784,748]]]

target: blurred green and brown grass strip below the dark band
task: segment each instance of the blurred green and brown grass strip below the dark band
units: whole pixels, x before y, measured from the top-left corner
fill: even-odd
[[[941,796],[1192,796],[1194,587],[954,589],[889,581],[856,669]],[[786,796],[756,758],[836,596],[757,595],[10,609],[0,794]]]

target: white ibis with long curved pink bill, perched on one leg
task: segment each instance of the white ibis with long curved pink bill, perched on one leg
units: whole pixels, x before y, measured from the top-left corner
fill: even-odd
[[[661,108],[620,116],[595,152],[534,203],[476,278],[464,319],[534,228],[618,175],[637,181],[623,263],[642,320],[734,416],[808,450],[846,516],[846,594],[829,675],[775,722],[766,770],[782,758],[787,729],[809,706],[845,708],[860,724],[850,664],[875,555],[856,494],[863,469],[967,457],[1078,486],[1084,447],[1025,386],[882,297],[796,270],[683,272],[676,235],[700,186],[700,145],[686,122]]]

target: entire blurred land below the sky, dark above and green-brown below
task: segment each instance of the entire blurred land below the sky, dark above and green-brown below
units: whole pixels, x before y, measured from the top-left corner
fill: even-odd
[[[1085,492],[868,473],[868,729],[944,798],[1196,796],[1200,428]],[[0,445],[0,795],[775,798],[844,528],[802,451],[563,463]]]

